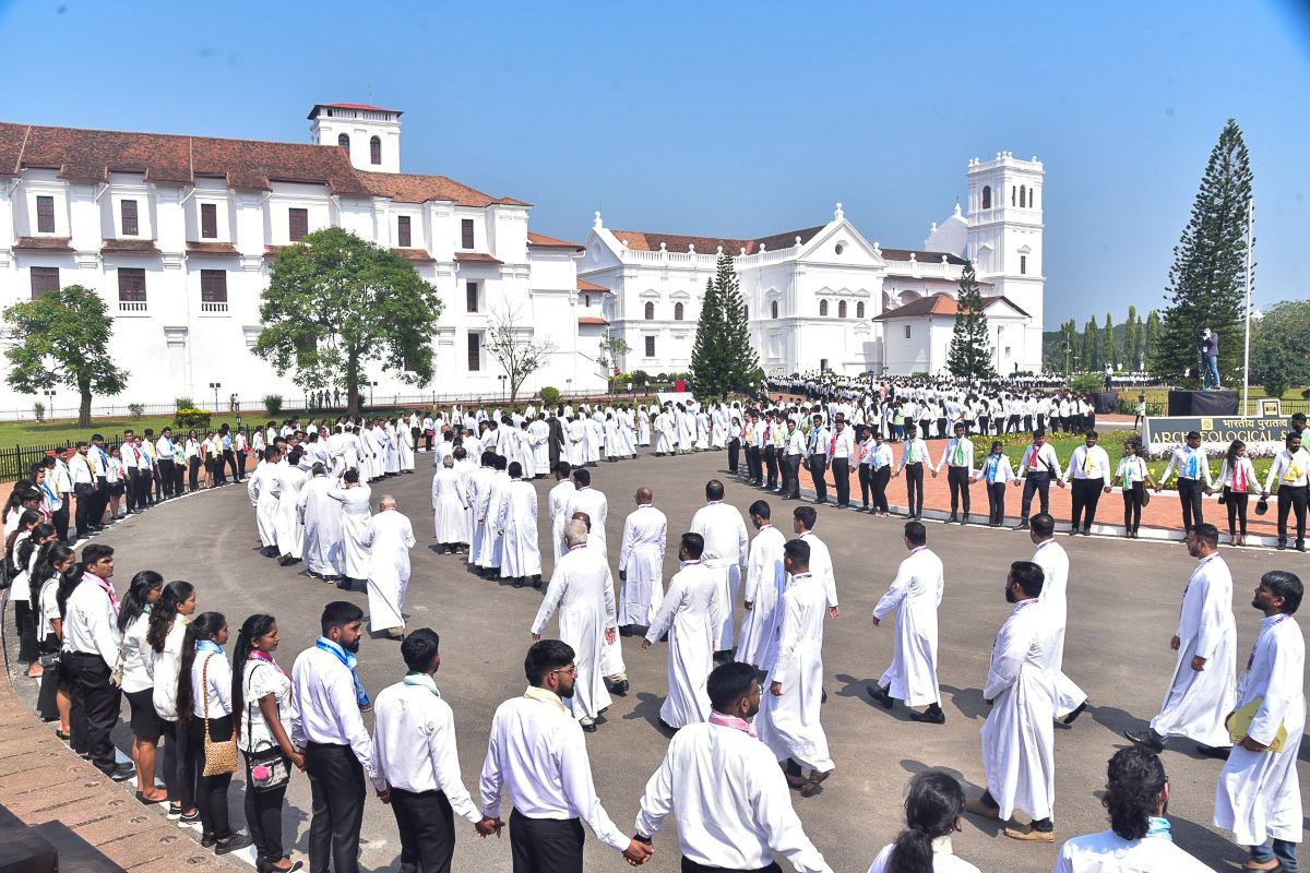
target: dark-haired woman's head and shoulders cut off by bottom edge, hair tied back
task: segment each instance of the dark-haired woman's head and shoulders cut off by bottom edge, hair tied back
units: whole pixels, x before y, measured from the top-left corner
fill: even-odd
[[[937,770],[918,774],[909,780],[905,797],[907,828],[883,847],[869,873],[979,873],[951,851],[951,834],[960,830],[963,813],[960,783]]]

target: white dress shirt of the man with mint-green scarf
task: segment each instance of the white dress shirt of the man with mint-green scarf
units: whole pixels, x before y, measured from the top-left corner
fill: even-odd
[[[377,772],[386,784],[414,793],[444,792],[455,813],[479,822],[482,814],[460,776],[451,704],[424,686],[397,682],[377,695],[373,713]]]

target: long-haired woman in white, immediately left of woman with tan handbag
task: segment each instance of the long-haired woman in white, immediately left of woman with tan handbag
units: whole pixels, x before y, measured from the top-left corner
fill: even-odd
[[[195,759],[186,747],[185,732],[177,725],[177,677],[182,666],[182,643],[187,615],[195,613],[195,586],[181,580],[164,586],[151,609],[145,643],[151,647],[149,673],[155,683],[151,702],[160,717],[164,746],[164,787],[168,789],[168,817],[185,823],[200,821],[195,808]]]

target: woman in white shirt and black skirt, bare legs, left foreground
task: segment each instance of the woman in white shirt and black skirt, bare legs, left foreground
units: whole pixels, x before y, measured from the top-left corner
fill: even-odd
[[[123,696],[132,708],[132,763],[136,764],[136,800],[147,806],[162,804],[168,792],[155,785],[155,751],[159,747],[162,725],[155,711],[155,679],[151,678],[149,630],[151,607],[164,592],[164,577],[153,569],[143,569],[132,576],[127,596],[118,610],[118,631],[123,645],[118,662],[123,669]]]

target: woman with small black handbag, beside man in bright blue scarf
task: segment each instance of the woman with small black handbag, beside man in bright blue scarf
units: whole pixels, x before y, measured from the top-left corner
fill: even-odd
[[[246,762],[246,825],[254,838],[257,873],[299,870],[300,861],[282,853],[282,806],[291,767],[305,759],[291,745],[291,677],[274,660],[278,622],[252,615],[237,631],[232,662],[232,711],[237,713],[237,746]]]

